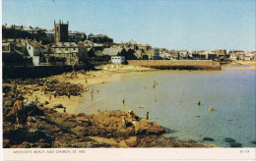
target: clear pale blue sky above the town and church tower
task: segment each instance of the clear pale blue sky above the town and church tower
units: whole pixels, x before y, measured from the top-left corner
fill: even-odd
[[[3,0],[3,24],[105,33],[167,49],[255,50],[255,0]]]

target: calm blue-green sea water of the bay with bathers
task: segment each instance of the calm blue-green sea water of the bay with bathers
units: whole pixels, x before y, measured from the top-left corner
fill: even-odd
[[[150,121],[168,129],[165,136],[223,147],[230,146],[224,137],[231,137],[243,147],[255,147],[251,143],[256,139],[255,72],[224,67],[222,71],[127,74],[121,80],[92,86],[93,100],[90,92],[85,93],[78,112],[134,110],[141,118],[150,112]],[[209,111],[210,106],[215,111]],[[203,141],[206,136],[215,141]]]

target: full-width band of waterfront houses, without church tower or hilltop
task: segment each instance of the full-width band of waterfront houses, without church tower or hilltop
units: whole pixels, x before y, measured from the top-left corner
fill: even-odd
[[[93,58],[104,58],[106,61],[111,60],[115,63],[122,63],[125,60],[256,60],[255,51],[167,50],[154,48],[149,44],[130,42],[107,46],[91,40],[42,45],[41,42],[31,39],[3,39],[2,51],[3,55],[16,54],[24,59],[32,60],[34,66],[76,65]]]

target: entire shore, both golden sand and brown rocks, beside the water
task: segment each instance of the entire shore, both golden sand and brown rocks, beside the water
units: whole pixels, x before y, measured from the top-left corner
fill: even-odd
[[[204,147],[199,143],[162,137],[163,127],[136,115],[131,120],[127,111],[76,114],[80,103],[85,101],[81,99],[81,88],[87,92],[91,85],[146,71],[153,69],[105,65],[91,72],[72,72],[37,80],[5,80],[4,147]],[[51,87],[61,89],[56,97]],[[75,92],[69,98],[67,92],[70,91]],[[20,125],[16,125],[14,116],[9,115],[14,97],[20,98],[16,93],[24,93],[21,96],[33,102],[24,109],[26,114]],[[63,107],[56,107],[59,104],[66,107],[67,113]],[[21,136],[17,137],[18,134]]]

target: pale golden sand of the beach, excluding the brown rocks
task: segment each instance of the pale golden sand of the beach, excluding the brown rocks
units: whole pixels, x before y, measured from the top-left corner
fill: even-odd
[[[87,92],[87,89],[90,86],[99,84],[99,83],[107,83],[109,81],[119,80],[122,75],[125,74],[140,74],[143,72],[153,71],[154,69],[137,67],[137,66],[129,66],[129,65],[104,65],[96,67],[96,71],[89,71],[84,73],[65,73],[58,76],[49,77],[49,79],[56,79],[59,81],[65,81],[75,84],[80,84]],[[32,88],[32,85],[28,85],[28,87]],[[90,89],[89,89],[90,90]],[[57,96],[56,98],[51,94],[44,94],[42,87],[40,90],[33,91],[32,94],[26,94],[30,101],[34,101],[36,97],[38,97],[38,101],[43,103],[45,101],[49,102],[49,104],[45,105],[47,108],[52,108],[54,105],[62,104],[66,107],[67,113],[76,114],[77,108],[81,103],[85,101],[83,96],[71,96],[68,98],[67,96]],[[49,97],[51,95],[51,100]],[[59,112],[62,112],[63,109],[56,109]]]

